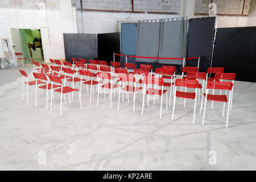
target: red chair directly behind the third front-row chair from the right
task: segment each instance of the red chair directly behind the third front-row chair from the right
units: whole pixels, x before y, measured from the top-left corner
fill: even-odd
[[[171,106],[171,96],[172,96],[172,85],[174,85],[174,82],[172,80],[174,79],[174,75],[172,74],[172,69],[164,69],[164,68],[156,68],[155,69],[155,76],[156,77],[162,77],[163,76],[170,76],[171,82],[164,82],[163,86],[170,87],[170,98],[169,98],[169,106]],[[166,106],[167,109],[167,106]]]

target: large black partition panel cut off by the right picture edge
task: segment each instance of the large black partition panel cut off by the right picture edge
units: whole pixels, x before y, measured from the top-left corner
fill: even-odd
[[[236,73],[236,80],[256,82],[256,27],[217,28],[213,67]]]

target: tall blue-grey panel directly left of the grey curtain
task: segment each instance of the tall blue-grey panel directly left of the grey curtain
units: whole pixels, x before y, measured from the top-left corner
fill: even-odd
[[[121,54],[123,55],[136,55],[137,43],[137,23],[122,23],[121,24]],[[119,56],[115,56],[116,60],[120,60]],[[124,67],[126,59],[121,56],[121,65]],[[135,58],[128,57],[129,63],[136,63]]]

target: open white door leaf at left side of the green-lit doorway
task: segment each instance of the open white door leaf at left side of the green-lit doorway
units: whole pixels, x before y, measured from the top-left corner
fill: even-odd
[[[13,40],[13,52],[14,52],[14,63],[15,67],[18,67],[18,61],[15,56],[15,52],[23,52],[22,51],[22,40],[20,38],[19,28],[11,28],[11,39]]]

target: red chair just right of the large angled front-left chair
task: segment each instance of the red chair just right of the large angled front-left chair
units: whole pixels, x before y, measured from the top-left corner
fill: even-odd
[[[90,85],[90,104],[92,104],[92,92],[94,96],[93,85],[98,85],[98,81],[93,80],[92,72],[90,72],[89,70],[80,69],[79,74],[81,75],[80,92],[82,93],[82,84],[85,84],[87,86],[87,95],[89,95],[88,85]],[[82,82],[82,76],[88,77],[88,81]]]

